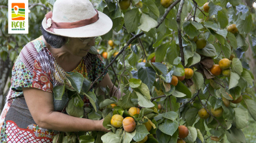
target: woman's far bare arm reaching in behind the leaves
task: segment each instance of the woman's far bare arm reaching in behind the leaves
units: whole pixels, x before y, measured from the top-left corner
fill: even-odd
[[[110,96],[116,96],[116,98],[120,98],[121,97],[121,92],[118,90],[118,88],[116,86],[113,86],[113,83],[111,81],[111,79],[109,78],[109,74],[106,74],[104,76],[104,78],[100,81],[100,83],[98,83],[98,85],[96,85],[95,88],[97,87],[109,87],[109,94]],[[112,90],[113,87],[113,90]],[[103,91],[102,91],[103,93]]]

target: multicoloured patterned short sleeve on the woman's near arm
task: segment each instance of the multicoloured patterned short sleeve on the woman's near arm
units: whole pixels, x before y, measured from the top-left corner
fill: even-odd
[[[38,56],[33,43],[28,43],[20,52],[15,65],[12,67],[11,89],[21,92],[22,87],[34,87],[43,91],[53,91],[51,76],[42,70],[36,60]]]

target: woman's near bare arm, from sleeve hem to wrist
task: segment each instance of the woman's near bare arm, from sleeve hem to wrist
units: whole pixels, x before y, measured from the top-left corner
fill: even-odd
[[[53,94],[35,88],[22,88],[28,109],[35,122],[56,131],[108,131],[103,120],[76,118],[54,111]]]

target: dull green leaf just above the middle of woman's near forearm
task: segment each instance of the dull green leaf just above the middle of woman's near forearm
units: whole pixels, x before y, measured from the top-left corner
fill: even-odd
[[[66,107],[66,113],[68,113],[68,115],[80,118],[84,115],[84,109],[82,107],[75,107],[72,100],[69,100],[68,106]]]

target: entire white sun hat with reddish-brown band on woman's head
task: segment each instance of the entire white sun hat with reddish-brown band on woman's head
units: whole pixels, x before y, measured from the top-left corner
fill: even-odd
[[[51,34],[84,38],[107,34],[113,23],[106,14],[95,10],[89,0],[57,0],[42,26]]]

